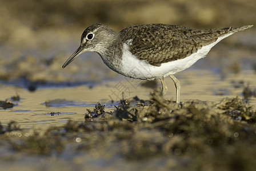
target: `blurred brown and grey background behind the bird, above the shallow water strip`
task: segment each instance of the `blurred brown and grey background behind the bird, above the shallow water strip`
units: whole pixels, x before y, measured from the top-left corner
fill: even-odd
[[[81,55],[65,70],[61,68],[79,46],[83,30],[93,23],[105,23],[115,31],[146,23],[203,29],[255,25],[256,18],[255,0],[1,0],[0,3],[0,83],[22,87],[100,83],[122,78],[94,52]],[[223,40],[189,70],[207,68],[219,74],[226,68],[230,72],[255,69],[255,28]]]

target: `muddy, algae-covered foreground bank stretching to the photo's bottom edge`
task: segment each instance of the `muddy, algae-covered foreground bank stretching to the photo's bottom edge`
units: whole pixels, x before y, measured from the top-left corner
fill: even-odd
[[[241,97],[177,104],[153,92],[150,100],[136,96],[120,101],[113,111],[105,112],[105,108],[95,104],[83,117],[79,115],[79,121],[70,119],[61,126],[22,129],[18,121],[1,124],[1,167],[255,169],[256,113]],[[43,116],[58,120],[64,114]]]

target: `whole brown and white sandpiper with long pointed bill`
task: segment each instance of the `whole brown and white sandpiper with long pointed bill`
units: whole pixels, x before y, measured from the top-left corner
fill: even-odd
[[[205,57],[222,39],[252,26],[197,30],[150,24],[131,26],[115,32],[110,27],[97,23],[83,31],[80,46],[62,68],[83,52],[97,52],[103,62],[119,74],[134,79],[159,79],[162,83],[162,95],[167,92],[164,78],[170,76],[176,87],[176,103],[179,103],[181,86],[173,74],[189,68]]]

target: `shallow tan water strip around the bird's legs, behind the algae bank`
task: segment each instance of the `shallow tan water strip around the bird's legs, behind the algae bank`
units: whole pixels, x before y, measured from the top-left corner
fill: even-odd
[[[243,71],[237,75],[229,74],[225,80],[221,80],[211,71],[189,70],[177,74],[177,78],[181,82],[181,101],[199,99],[217,102],[223,97],[242,96],[243,87],[247,84],[252,90],[256,89],[254,71]],[[175,100],[174,84],[170,78],[165,80],[169,88],[165,98]],[[239,83],[241,81],[244,83]],[[106,111],[110,112],[113,111],[119,99],[138,96],[139,99],[149,100],[149,93],[153,91],[153,88],[159,90],[161,87],[158,82],[153,88],[143,87],[142,83],[146,82],[123,78],[118,82],[105,82],[93,88],[90,86],[49,87],[38,88],[33,92],[2,85],[0,87],[1,100],[9,99],[15,94],[18,94],[21,100],[14,101],[13,108],[0,110],[1,122],[7,124],[9,121],[16,121],[21,128],[42,129],[50,125],[63,125],[70,119],[83,121],[86,109],[94,108],[97,103],[105,104]],[[255,108],[255,97],[251,97],[249,103]],[[55,115],[51,116],[51,112],[55,112]]]

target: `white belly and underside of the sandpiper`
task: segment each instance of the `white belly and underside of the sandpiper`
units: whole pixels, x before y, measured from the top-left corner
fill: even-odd
[[[130,78],[143,80],[155,80],[175,74],[191,67],[197,60],[205,57],[215,44],[231,34],[233,33],[219,37],[214,43],[203,46],[195,54],[191,54],[183,59],[163,63],[159,67],[152,66],[146,60],[139,60],[135,55],[131,54],[130,46],[133,40],[130,39],[127,43],[123,44],[122,71],[119,71],[119,73]]]

